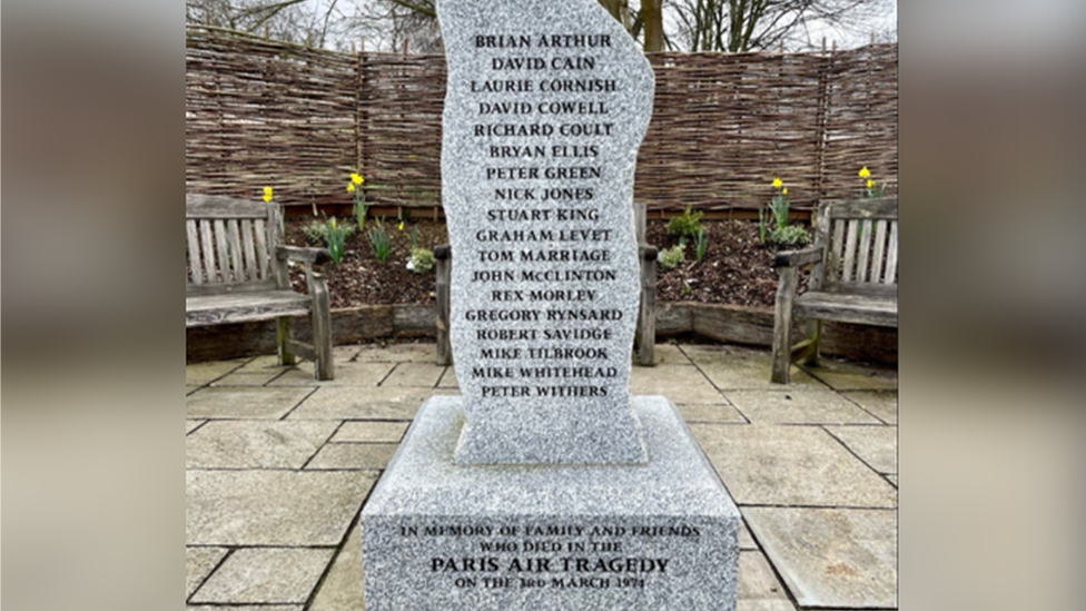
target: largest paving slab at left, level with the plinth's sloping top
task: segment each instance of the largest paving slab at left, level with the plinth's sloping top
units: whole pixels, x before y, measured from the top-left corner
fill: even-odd
[[[189,545],[338,545],[376,473],[187,471]]]

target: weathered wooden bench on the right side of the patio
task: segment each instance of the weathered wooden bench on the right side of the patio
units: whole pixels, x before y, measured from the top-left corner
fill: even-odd
[[[814,245],[778,253],[780,275],[773,324],[771,380],[787,384],[791,363],[817,365],[822,321],[898,326],[898,200],[827,201],[814,217]],[[797,296],[799,270],[813,265],[807,293]],[[807,321],[806,338],[791,345],[792,319]]]

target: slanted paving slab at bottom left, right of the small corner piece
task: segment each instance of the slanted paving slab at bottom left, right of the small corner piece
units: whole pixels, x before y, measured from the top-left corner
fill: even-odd
[[[194,603],[304,603],[335,550],[256,548],[235,551],[190,598]]]

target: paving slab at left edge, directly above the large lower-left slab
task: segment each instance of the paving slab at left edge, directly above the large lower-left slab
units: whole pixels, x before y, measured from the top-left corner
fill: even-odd
[[[302,469],[334,421],[211,421],[185,438],[187,469]]]

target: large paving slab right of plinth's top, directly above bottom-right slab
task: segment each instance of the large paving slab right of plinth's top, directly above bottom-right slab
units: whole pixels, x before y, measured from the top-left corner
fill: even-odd
[[[690,430],[740,505],[897,506],[894,486],[820,427],[691,424]]]

